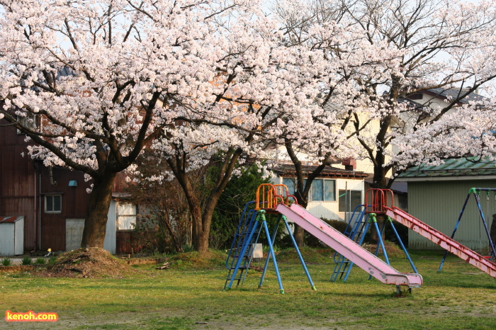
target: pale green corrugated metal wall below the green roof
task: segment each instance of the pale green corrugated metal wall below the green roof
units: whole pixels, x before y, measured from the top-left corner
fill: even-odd
[[[451,237],[470,188],[496,188],[496,180],[409,182],[409,213]],[[487,226],[490,227],[492,215],[496,213],[495,193],[490,193],[487,203],[487,195],[482,192],[480,205]],[[487,234],[473,195],[468,200],[454,239],[469,249],[483,249],[487,246]],[[411,230],[408,232],[408,248],[441,249]]]

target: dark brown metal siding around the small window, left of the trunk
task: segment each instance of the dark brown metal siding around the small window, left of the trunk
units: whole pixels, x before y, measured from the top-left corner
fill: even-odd
[[[1,120],[1,124],[6,123]],[[18,135],[12,127],[0,127],[0,215],[23,215],[25,217],[24,248],[40,246],[38,225],[41,220],[41,249],[54,251],[65,249],[65,219],[86,217],[89,194],[84,175],[78,171],[54,168],[53,180],[40,162],[33,162],[27,155],[25,135]],[[21,156],[24,153],[24,157]],[[38,169],[37,169],[38,168]],[[69,187],[69,181],[77,180],[77,187]],[[41,183],[41,188],[40,188]],[[40,195],[41,193],[41,195]],[[62,213],[45,214],[45,195],[62,194]],[[41,213],[39,208],[41,205]]]

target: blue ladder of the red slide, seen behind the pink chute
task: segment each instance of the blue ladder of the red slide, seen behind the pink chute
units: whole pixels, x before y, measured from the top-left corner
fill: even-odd
[[[362,207],[361,211],[359,211],[359,207]],[[365,234],[368,229],[368,224],[370,223],[366,220],[365,210],[365,205],[356,206],[346,229],[344,229],[344,235],[359,245],[363,243],[363,239],[365,238]],[[351,267],[353,267],[353,262],[349,261],[348,258],[345,258],[338,252],[334,252],[333,258],[336,266],[334,266],[334,271],[332,272],[330,281],[335,282],[338,279],[343,279],[343,281],[346,281],[349,272],[351,271]]]

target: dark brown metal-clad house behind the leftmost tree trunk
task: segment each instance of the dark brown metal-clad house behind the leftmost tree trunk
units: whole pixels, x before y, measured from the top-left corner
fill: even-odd
[[[6,124],[1,120],[0,124]],[[26,135],[13,127],[1,127],[0,215],[23,216],[23,250],[70,251],[81,244],[91,182],[83,173],[47,167],[26,155]],[[119,174],[108,212],[105,249],[130,253],[130,231],[137,205],[125,201],[125,177]]]

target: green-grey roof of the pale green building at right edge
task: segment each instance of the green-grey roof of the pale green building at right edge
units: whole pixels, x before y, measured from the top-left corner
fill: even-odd
[[[432,178],[452,176],[495,176],[496,161],[478,161],[478,157],[446,159],[444,164],[420,165],[400,174],[400,178]]]

